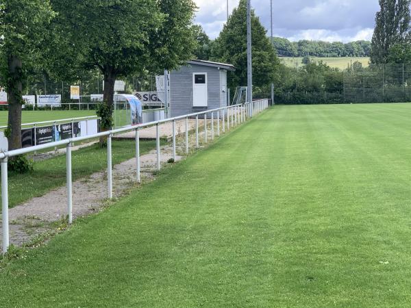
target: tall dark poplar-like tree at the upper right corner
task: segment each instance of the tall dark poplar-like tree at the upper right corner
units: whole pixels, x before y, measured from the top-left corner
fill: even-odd
[[[388,51],[410,40],[411,0],[379,0],[381,10],[375,16],[371,62],[387,62]]]

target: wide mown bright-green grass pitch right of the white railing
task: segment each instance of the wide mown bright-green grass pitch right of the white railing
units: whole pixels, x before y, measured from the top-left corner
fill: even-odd
[[[411,105],[279,106],[0,272],[5,307],[410,307]]]

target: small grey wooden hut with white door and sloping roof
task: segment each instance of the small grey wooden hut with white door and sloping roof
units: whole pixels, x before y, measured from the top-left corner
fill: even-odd
[[[231,64],[192,60],[170,73],[171,117],[227,106]]]

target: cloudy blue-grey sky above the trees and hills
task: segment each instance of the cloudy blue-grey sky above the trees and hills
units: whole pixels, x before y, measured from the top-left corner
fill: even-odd
[[[229,0],[229,12],[238,1]],[[195,23],[216,38],[227,19],[227,0],[195,2],[199,7]],[[270,0],[251,0],[251,6],[269,30]],[[371,40],[378,10],[378,0],[273,0],[273,35],[292,41]]]

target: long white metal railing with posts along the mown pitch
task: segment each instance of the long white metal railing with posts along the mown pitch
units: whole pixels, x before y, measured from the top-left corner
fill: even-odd
[[[67,216],[69,224],[73,222],[73,181],[71,176],[71,147],[73,142],[80,142],[92,138],[107,137],[107,179],[108,179],[108,198],[112,198],[112,136],[118,133],[125,133],[127,131],[135,131],[136,136],[136,180],[138,183],[141,181],[140,177],[140,130],[147,127],[156,127],[156,142],[155,148],[157,153],[157,169],[160,170],[160,125],[164,123],[173,123],[173,159],[176,159],[176,130],[175,122],[177,120],[186,120],[186,133],[185,133],[185,151],[188,154],[189,144],[188,144],[188,119],[195,118],[195,147],[199,148],[199,117],[203,116],[204,119],[204,142],[208,142],[208,126],[207,120],[211,120],[211,138],[214,139],[214,120],[216,122],[216,134],[221,135],[221,130],[223,133],[229,131],[230,127],[236,127],[248,118],[251,118],[255,114],[258,114],[269,107],[269,100],[263,99],[260,101],[253,101],[252,103],[245,103],[240,105],[232,105],[227,107],[221,107],[214,110],[206,110],[204,112],[197,112],[194,114],[186,114],[184,116],[177,116],[175,118],[167,118],[164,120],[159,120],[151,123],[140,124],[136,126],[122,127],[119,129],[112,129],[111,131],[103,131],[101,133],[96,133],[90,136],[82,136],[77,138],[70,138],[66,140],[61,140],[58,142],[51,142],[48,144],[41,144],[38,146],[31,146],[29,148],[17,149],[13,151],[0,153],[0,164],[1,164],[1,207],[2,207],[2,227],[3,227],[3,253],[8,251],[10,246],[9,242],[9,220],[8,220],[8,158],[17,155],[23,155],[27,153],[33,153],[43,149],[53,148],[55,146],[66,145],[66,190],[67,190]],[[210,118],[208,118],[210,115]],[[222,126],[222,127],[221,127]]]

